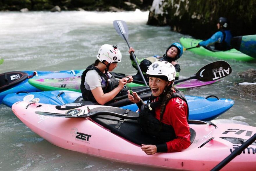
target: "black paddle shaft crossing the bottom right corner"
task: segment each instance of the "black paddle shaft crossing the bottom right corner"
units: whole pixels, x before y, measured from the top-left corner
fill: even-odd
[[[229,163],[233,158],[238,156],[243,152],[244,149],[246,149],[250,144],[255,142],[256,140],[256,134],[254,134],[252,137],[250,137],[246,142],[244,142],[240,147],[235,149],[229,156],[227,156],[223,161],[221,161],[218,165],[216,165],[211,171],[217,171],[223,168],[227,163]]]

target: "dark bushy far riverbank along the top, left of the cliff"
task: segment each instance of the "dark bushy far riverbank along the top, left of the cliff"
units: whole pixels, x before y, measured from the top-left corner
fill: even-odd
[[[135,10],[133,4],[141,10],[147,10],[153,0],[1,0],[0,10],[19,11],[22,8],[29,10],[51,10],[59,6],[61,10],[84,10],[109,11],[111,6],[121,10]],[[130,5],[131,4],[131,5]],[[133,5],[133,6],[134,6]]]

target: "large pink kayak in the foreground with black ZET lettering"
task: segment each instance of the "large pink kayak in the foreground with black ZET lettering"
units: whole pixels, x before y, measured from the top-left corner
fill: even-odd
[[[169,169],[211,170],[256,133],[255,127],[241,124],[190,124],[192,143],[189,148],[176,153],[147,156],[140,149],[140,143],[150,143],[153,138],[141,135],[137,121],[117,117],[114,119],[114,116],[108,114],[123,114],[122,110],[125,109],[97,105],[57,107],[22,101],[15,103],[12,110],[32,131],[58,147],[113,161]],[[101,112],[105,115],[65,118],[36,114],[46,112],[73,117]],[[128,116],[137,115],[126,110],[125,113]],[[250,145],[223,170],[255,170],[255,145]]]

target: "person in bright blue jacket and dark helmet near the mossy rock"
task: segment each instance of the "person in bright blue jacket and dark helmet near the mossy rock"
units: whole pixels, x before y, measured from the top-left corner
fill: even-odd
[[[217,31],[211,38],[201,41],[198,43],[199,46],[207,47],[209,45],[214,44],[215,50],[230,50],[230,42],[232,39],[232,34],[230,32],[230,24],[227,18],[220,17],[218,19],[217,28],[220,31]]]

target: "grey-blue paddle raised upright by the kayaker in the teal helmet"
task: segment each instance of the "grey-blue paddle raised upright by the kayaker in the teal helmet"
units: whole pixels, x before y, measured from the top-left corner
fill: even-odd
[[[115,28],[115,30],[117,31],[117,33],[118,33],[123,39],[125,39],[125,41],[126,41],[128,47],[130,48],[131,46],[130,46],[130,44],[129,44],[129,42],[128,42],[128,27],[126,26],[125,21],[122,21],[122,20],[115,20],[115,21],[113,21],[113,25],[114,25],[114,28]],[[141,74],[141,77],[142,77],[142,79],[143,79],[143,81],[144,81],[144,84],[147,86],[147,82],[146,82],[146,80],[145,80],[145,78],[144,78],[144,76],[143,76],[143,73],[141,72],[141,68],[139,67],[139,64],[138,64],[138,62],[137,62],[137,60],[136,60],[136,58],[135,58],[133,52],[131,52],[131,56],[133,57],[133,60],[135,61],[136,65],[137,65],[138,71],[139,71],[139,73]]]

